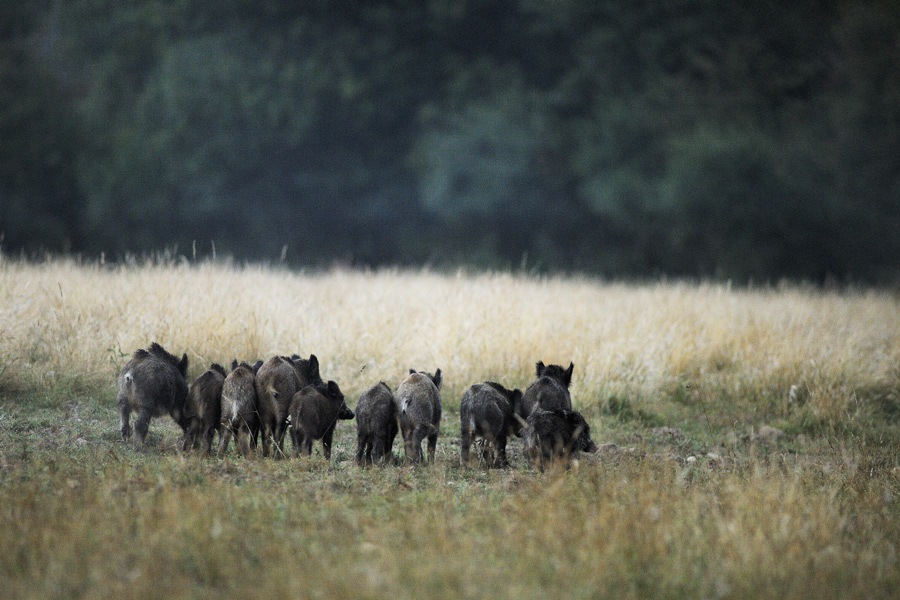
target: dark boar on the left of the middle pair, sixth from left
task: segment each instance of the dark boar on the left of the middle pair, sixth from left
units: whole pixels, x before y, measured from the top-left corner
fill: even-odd
[[[383,463],[397,437],[397,405],[383,381],[362,393],[356,403],[356,462]]]

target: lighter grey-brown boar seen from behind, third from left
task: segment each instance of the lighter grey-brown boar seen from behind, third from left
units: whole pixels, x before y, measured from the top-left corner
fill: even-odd
[[[231,373],[222,384],[222,421],[219,427],[219,456],[224,456],[235,437],[238,450],[247,458],[256,448],[259,436],[259,412],[256,397],[256,372],[245,362],[231,363]]]

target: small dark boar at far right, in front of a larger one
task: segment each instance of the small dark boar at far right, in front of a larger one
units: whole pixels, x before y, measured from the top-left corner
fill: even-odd
[[[559,460],[568,467],[573,454],[597,451],[590,426],[574,410],[535,409],[528,415],[524,437],[525,455],[537,462],[541,471],[549,461]]]

